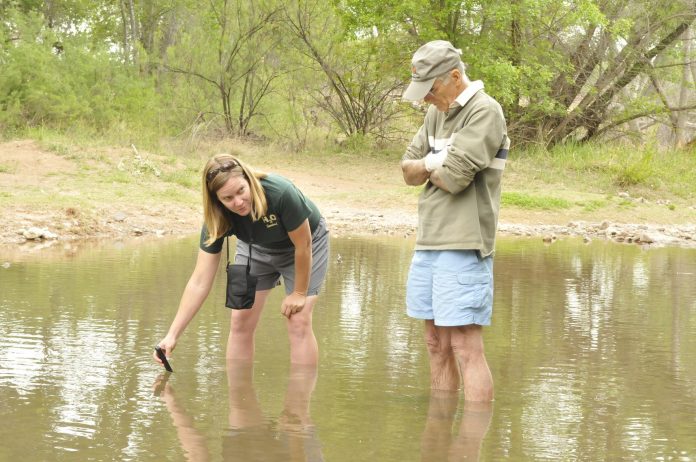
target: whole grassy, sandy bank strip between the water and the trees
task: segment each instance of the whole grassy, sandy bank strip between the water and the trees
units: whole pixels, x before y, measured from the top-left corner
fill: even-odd
[[[252,165],[293,178],[319,202],[356,208],[415,210],[419,188],[403,184],[402,146],[331,143],[303,153],[232,139],[158,141],[87,139],[53,132],[26,134],[54,155],[36,165],[42,178],[17,178],[23,162],[0,156],[0,207],[98,209],[137,205],[198,207],[199,171],[213,153],[237,150]],[[5,143],[8,149],[8,143]],[[51,165],[53,162],[53,165]],[[13,180],[10,180],[14,178]],[[40,180],[40,181],[39,181]],[[654,147],[562,146],[513,149],[504,176],[501,221],[561,224],[696,222],[696,151]],[[50,199],[50,200],[49,200]]]

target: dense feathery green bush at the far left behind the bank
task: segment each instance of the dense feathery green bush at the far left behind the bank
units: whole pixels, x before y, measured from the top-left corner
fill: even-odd
[[[130,66],[113,59],[108,43],[94,42],[89,18],[80,31],[69,27],[77,21],[73,16],[48,21],[41,10],[4,13],[3,34],[12,38],[0,54],[0,125],[6,130],[40,125],[107,130],[157,119],[152,82],[133,78]]]

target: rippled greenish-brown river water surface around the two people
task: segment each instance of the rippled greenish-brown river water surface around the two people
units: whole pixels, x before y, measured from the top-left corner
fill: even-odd
[[[314,317],[321,367],[328,372],[322,373],[327,397],[314,417],[327,416],[322,425],[331,431],[322,437],[332,451],[350,451],[353,441],[345,435],[360,435],[365,441],[361,454],[368,452],[365,447],[382,448],[378,455],[386,457],[381,460],[392,460],[388,445],[394,439],[370,440],[370,435],[399,435],[407,428],[415,429],[418,439],[422,413],[411,410],[418,403],[414,395],[427,392],[427,358],[422,323],[408,320],[404,312],[411,255],[412,246],[398,239],[332,242],[330,273]],[[132,459],[142,455],[142,447],[155,444],[150,433],[163,430],[149,426],[158,406],[142,397],[142,358],[151,351],[151,332],[166,329],[166,313],[178,303],[190,274],[184,263],[193,257],[195,242],[177,241],[85,253],[65,265],[31,261],[3,270],[0,359],[8,374],[3,403],[16,428],[31,422],[38,429],[8,427],[9,456],[23,455],[15,447],[46,454],[55,446],[95,454],[121,451]],[[547,449],[555,458],[563,453],[585,460],[617,454],[653,459],[649,455],[660,447],[664,454],[673,448],[696,453],[691,418],[696,415],[695,262],[689,249],[499,241],[493,325],[485,329],[499,425],[493,425],[491,445],[484,448],[487,455],[501,457],[487,459]],[[196,358],[196,379],[176,382],[182,398],[205,397],[192,403],[196,414],[212,415],[224,402],[216,395],[218,382],[207,378],[219,368],[217,348],[226,338],[223,297],[223,291],[213,294],[197,319],[214,321],[201,321],[187,334],[190,349],[177,351],[179,361]],[[278,338],[284,339],[281,323],[264,327],[272,331],[276,325]],[[279,350],[275,337],[272,342]],[[98,363],[104,357],[109,362]],[[67,362],[73,366],[65,367]],[[151,367],[147,364],[145,370]],[[92,377],[85,382],[90,386],[79,387],[85,374]],[[39,394],[35,405],[13,403]],[[60,433],[75,428],[60,427],[56,420],[67,422],[63,413],[76,403],[83,405],[74,410],[85,432],[92,431],[91,406],[97,406],[96,439]],[[276,431],[280,418],[272,417],[275,423],[269,424],[268,416],[265,422]],[[210,443],[213,431],[196,424]],[[35,441],[37,432],[48,436]],[[109,443],[103,443],[104,435]],[[551,448],[549,441],[559,446]],[[100,446],[95,449],[95,444]],[[399,444],[411,452],[417,445]],[[637,456],[635,451],[646,444],[652,445],[645,449],[648,456]],[[218,453],[220,440],[210,447]],[[369,453],[374,452],[378,449]]]

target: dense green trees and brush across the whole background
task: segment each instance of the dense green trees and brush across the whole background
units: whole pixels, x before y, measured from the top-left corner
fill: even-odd
[[[401,145],[442,38],[518,145],[696,137],[690,0],[0,0],[0,133]]]

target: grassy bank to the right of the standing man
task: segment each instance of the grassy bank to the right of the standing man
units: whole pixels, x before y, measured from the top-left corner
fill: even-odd
[[[506,207],[623,222],[696,217],[696,151],[652,146],[566,145],[511,154]]]

